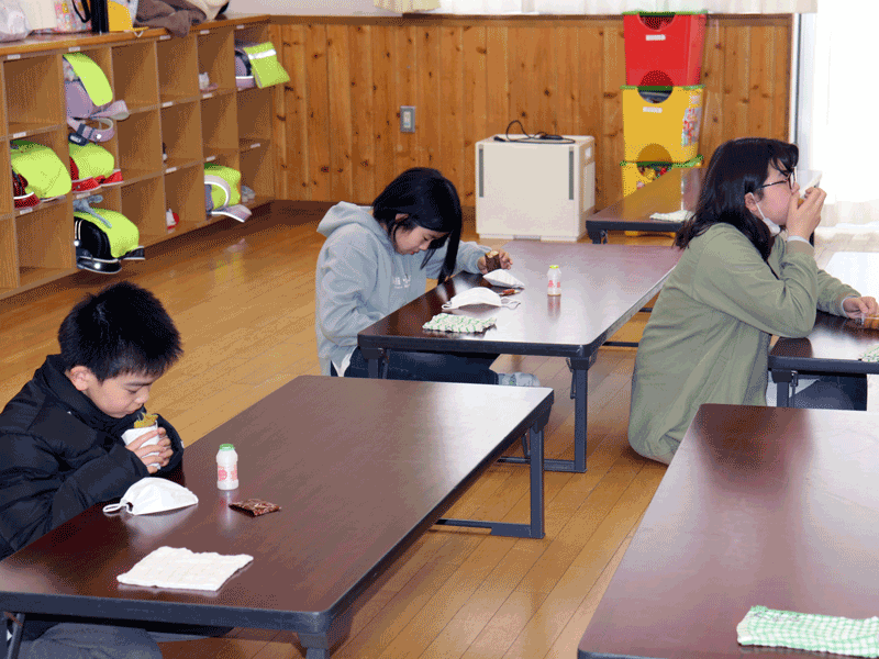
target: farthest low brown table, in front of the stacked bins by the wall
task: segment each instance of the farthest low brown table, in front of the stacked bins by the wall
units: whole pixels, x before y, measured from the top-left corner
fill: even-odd
[[[653,213],[693,211],[702,189],[702,167],[669,170],[632,194],[586,219],[586,232],[594,244],[608,242],[609,231],[677,232],[683,222],[650,220]]]

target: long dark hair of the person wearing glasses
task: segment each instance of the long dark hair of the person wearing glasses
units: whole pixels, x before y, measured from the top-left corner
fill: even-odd
[[[747,209],[745,196],[750,192],[758,201],[763,199],[760,187],[769,167],[791,174],[799,157],[795,144],[778,139],[743,137],[721,144],[711,156],[696,212],[678,231],[675,244],[685,248],[709,226],[723,222],[745,234],[764,260],[769,258],[771,234]]]

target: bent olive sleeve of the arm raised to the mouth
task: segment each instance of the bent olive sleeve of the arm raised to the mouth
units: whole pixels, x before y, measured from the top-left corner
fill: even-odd
[[[769,334],[800,337],[815,324],[819,277],[813,248],[793,242],[776,273],[738,231],[706,236],[694,299]]]

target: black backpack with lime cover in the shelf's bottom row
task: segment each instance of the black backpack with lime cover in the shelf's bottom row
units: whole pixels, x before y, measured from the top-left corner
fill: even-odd
[[[112,275],[123,260],[143,260],[144,248],[137,244],[137,226],[119,211],[93,209],[90,203],[103,200],[100,194],[74,201],[74,247],[76,266],[84,270]]]

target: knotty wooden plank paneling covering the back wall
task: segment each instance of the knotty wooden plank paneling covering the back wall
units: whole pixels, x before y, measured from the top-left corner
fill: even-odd
[[[700,137],[706,159],[732,137],[787,137],[791,25],[786,15],[710,16]],[[343,26],[347,57],[336,47]],[[513,119],[532,133],[594,136],[597,206],[622,193],[620,16],[292,21],[281,34],[291,81],[276,113],[283,124],[279,197],[369,203],[400,170],[419,165],[441,169],[472,205],[474,144]],[[347,88],[349,97],[340,97]],[[401,104],[418,108],[414,134],[399,132]]]

